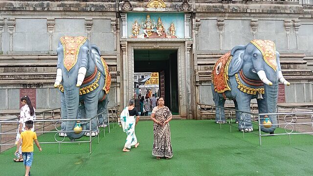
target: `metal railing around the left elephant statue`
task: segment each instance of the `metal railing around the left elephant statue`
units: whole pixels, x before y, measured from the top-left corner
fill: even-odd
[[[40,119],[36,119],[34,121],[34,126],[35,126],[35,132],[40,135],[40,134],[44,134],[44,133],[55,133],[54,135],[54,140],[53,142],[49,141],[49,142],[40,142],[40,144],[59,144],[59,153],[61,153],[61,144],[65,144],[65,143],[89,143],[89,152],[92,152],[92,140],[95,139],[96,137],[98,138],[98,144],[100,141],[100,133],[103,132],[104,136],[105,136],[105,128],[108,127],[109,132],[110,132],[110,123],[112,124],[112,127],[114,128],[114,121],[117,124],[117,119],[118,119],[118,106],[115,107],[109,107],[106,111],[102,111],[101,113],[95,115],[92,118],[86,118],[86,119],[61,119],[61,109],[53,109],[53,110],[46,110],[46,111],[42,111],[43,114],[43,118]],[[47,115],[49,114],[49,115]],[[51,115],[50,115],[51,114]],[[99,117],[104,117],[104,115],[107,114],[107,118],[104,118],[102,123],[99,123]],[[38,115],[37,115],[38,116]],[[91,129],[91,124],[92,121],[94,121],[94,119],[96,118],[96,122],[97,122],[97,126],[96,126],[96,132],[98,132],[98,134],[96,136],[91,136],[91,133],[94,132],[93,129]],[[110,119],[112,119],[112,122],[110,122]],[[89,139],[88,140],[81,140],[81,139],[76,139],[76,140],[70,140],[70,141],[66,141],[66,137],[62,136],[61,138],[58,138],[57,135],[60,134],[61,132],[75,132],[75,131],[66,131],[65,129],[60,129],[60,126],[62,123],[65,124],[65,122],[69,122],[69,121],[74,121],[76,122],[77,120],[81,121],[82,124],[88,124],[89,123],[89,130],[82,130],[80,132],[89,132]],[[108,123],[108,125],[106,125],[106,121]],[[2,132],[2,127],[3,126],[15,126],[17,127],[19,125],[19,122],[17,121],[17,118],[12,118],[12,119],[8,119],[8,120],[2,120],[0,121],[0,152],[1,152],[1,146],[14,146],[15,145],[15,141],[14,143],[12,143],[13,140],[15,140],[15,136],[12,137],[12,139],[9,139],[5,142],[1,141],[1,138],[4,135],[16,135],[17,132],[14,132],[17,130],[17,128],[11,129],[11,130],[7,130],[7,131],[3,131]],[[102,125],[104,128],[100,129],[100,125]],[[39,127],[39,128],[36,128]],[[47,127],[54,127],[54,130],[47,130]]]

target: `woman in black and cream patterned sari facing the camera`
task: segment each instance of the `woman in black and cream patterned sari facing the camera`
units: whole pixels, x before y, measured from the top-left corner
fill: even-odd
[[[173,156],[171,144],[171,131],[169,122],[172,120],[171,111],[164,106],[164,98],[158,99],[158,106],[156,106],[151,113],[151,120],[154,121],[153,133],[153,150],[152,155],[156,159],[164,157],[170,159]]]

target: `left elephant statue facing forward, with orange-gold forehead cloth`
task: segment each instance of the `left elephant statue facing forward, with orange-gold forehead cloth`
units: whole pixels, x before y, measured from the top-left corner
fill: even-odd
[[[84,134],[95,136],[97,126],[104,125],[108,119],[108,93],[111,85],[111,75],[108,65],[101,57],[100,49],[90,44],[86,37],[61,37],[58,48],[57,76],[55,88],[61,94],[61,118],[77,119],[64,121],[61,124],[60,136],[78,139]],[[92,118],[105,111],[98,119],[91,121],[91,134],[82,132],[89,130],[89,121],[80,122],[82,118]],[[107,123],[107,122],[105,122]]]

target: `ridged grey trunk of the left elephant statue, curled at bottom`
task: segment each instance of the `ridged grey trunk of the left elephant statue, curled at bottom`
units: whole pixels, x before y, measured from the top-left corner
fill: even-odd
[[[77,119],[78,104],[79,104],[79,88],[70,87],[64,88],[65,100],[67,102],[67,119]],[[67,121],[66,131],[73,131],[76,121]],[[83,130],[86,130],[86,128]],[[84,135],[84,132],[78,134],[74,132],[67,132],[67,137],[70,139],[78,139]]]

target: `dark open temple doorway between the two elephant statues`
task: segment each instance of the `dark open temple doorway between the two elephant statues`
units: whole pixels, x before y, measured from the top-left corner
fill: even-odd
[[[134,50],[135,99],[139,101],[139,93],[149,98],[162,96],[173,115],[179,114],[177,59],[177,50]]]

